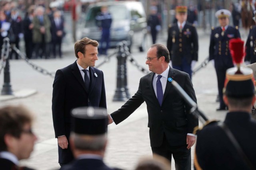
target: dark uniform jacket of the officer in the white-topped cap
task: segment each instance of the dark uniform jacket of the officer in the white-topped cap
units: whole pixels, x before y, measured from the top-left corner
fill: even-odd
[[[231,68],[233,67],[232,57],[229,50],[229,40],[232,38],[240,38],[239,30],[228,26],[224,35],[221,35],[222,28],[216,27],[212,29],[209,47],[209,59],[214,59],[215,68]]]

